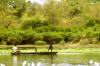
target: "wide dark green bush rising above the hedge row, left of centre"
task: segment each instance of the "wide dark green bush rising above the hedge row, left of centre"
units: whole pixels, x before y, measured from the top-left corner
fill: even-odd
[[[47,26],[48,22],[46,20],[42,20],[39,18],[27,18],[23,21],[21,24],[22,29],[29,29],[29,28],[36,28],[36,27],[41,27],[41,26]]]

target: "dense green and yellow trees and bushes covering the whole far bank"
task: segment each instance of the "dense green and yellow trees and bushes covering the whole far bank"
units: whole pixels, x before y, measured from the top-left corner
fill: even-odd
[[[0,44],[99,44],[99,0],[0,0]]]

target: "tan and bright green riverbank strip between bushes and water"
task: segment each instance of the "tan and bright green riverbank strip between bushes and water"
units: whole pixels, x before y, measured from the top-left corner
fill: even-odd
[[[7,54],[12,52],[13,45],[1,45],[0,53]],[[49,45],[18,45],[18,49],[21,52],[35,52],[34,47],[37,49],[37,52],[47,52]],[[100,45],[53,45],[53,51],[58,53],[93,53],[100,52]]]

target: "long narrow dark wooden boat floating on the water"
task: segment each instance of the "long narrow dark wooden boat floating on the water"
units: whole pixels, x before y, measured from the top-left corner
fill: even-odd
[[[57,52],[30,52],[30,53],[21,53],[21,52],[12,52],[11,55],[20,55],[20,54],[42,54],[42,55],[50,55],[57,54]]]

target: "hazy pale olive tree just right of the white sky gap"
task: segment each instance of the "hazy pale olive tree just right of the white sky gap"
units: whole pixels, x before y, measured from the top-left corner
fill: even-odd
[[[59,3],[50,1],[44,5],[43,15],[51,24],[56,25],[57,23],[59,23],[59,14],[61,14],[59,11]]]

